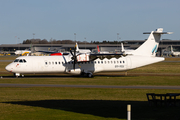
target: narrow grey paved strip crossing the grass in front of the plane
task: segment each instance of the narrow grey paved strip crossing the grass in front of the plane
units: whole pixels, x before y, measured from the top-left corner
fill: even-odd
[[[180,86],[115,86],[115,85],[56,85],[56,84],[12,84],[0,83],[0,87],[59,87],[59,88],[115,88],[115,89],[180,89]]]

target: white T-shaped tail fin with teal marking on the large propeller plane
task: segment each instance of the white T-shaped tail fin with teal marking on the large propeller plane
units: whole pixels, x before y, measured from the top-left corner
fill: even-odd
[[[172,32],[163,32],[163,28],[158,28],[156,31],[145,32],[144,34],[150,34],[149,38],[132,54],[142,56],[156,56],[156,52],[159,46],[161,34],[172,34]]]

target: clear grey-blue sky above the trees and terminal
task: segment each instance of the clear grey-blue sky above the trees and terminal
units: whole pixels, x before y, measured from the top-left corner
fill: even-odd
[[[163,28],[180,40],[180,0],[0,0],[0,44],[34,38],[144,40]]]

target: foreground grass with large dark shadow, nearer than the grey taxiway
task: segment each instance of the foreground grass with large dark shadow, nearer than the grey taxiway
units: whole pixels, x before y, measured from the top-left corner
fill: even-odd
[[[180,118],[179,107],[150,107],[146,99],[148,92],[178,90],[34,87],[0,91],[0,119],[125,120],[127,104],[132,105],[134,120]]]

